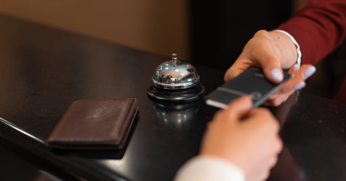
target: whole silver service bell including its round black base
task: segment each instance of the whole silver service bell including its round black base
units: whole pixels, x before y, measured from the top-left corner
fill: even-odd
[[[163,101],[192,101],[203,96],[205,88],[199,82],[196,69],[178,60],[177,54],[172,55],[172,60],[156,67],[148,95]]]

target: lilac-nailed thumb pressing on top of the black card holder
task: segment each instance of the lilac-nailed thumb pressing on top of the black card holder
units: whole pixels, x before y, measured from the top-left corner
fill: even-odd
[[[283,71],[279,61],[275,57],[262,59],[260,62],[263,67],[265,77],[273,83],[280,83],[283,80]]]

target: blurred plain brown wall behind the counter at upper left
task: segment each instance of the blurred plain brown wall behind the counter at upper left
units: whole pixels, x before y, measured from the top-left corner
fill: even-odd
[[[0,0],[0,13],[190,59],[186,0]]]

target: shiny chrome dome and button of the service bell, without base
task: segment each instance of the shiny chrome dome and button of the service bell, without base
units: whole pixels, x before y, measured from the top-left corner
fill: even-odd
[[[172,60],[165,61],[156,67],[152,77],[153,86],[161,89],[187,89],[199,84],[199,75],[196,69],[187,62],[177,59],[172,54]]]

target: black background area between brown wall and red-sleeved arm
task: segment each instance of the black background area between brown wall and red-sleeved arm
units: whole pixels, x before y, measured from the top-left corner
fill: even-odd
[[[260,29],[271,30],[292,14],[292,0],[191,1],[192,60],[226,70]]]

